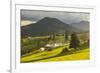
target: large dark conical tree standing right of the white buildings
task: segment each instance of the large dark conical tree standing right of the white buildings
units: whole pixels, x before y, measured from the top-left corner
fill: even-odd
[[[80,41],[76,35],[76,33],[73,33],[71,35],[71,41],[70,41],[70,48],[77,49],[79,47]]]

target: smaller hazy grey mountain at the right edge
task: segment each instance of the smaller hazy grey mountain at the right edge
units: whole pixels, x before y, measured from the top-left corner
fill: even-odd
[[[89,22],[88,21],[80,21],[79,23],[72,23],[73,27],[81,29],[83,31],[89,31]]]

